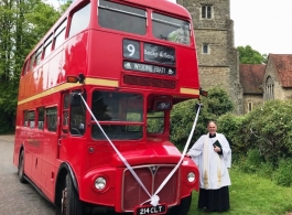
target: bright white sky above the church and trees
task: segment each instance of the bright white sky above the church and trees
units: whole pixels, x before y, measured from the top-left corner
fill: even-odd
[[[292,0],[230,0],[230,19],[235,47],[250,45],[260,54],[292,54]]]

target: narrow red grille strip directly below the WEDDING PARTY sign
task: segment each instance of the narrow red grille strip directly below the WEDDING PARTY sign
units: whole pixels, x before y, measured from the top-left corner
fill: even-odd
[[[140,77],[134,75],[125,75],[123,83],[128,85],[140,85],[149,87],[175,89],[175,80],[160,79],[152,77]]]

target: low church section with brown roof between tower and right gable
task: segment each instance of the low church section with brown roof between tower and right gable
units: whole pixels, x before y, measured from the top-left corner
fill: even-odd
[[[263,104],[262,79],[264,71],[264,64],[239,65],[240,83],[244,87],[244,114]]]

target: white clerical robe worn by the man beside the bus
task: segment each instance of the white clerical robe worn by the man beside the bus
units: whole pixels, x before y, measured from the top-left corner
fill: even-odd
[[[213,143],[219,141],[223,154],[214,151]],[[231,166],[231,149],[224,135],[203,135],[187,152],[199,169],[199,187],[217,190],[231,185],[228,168]]]

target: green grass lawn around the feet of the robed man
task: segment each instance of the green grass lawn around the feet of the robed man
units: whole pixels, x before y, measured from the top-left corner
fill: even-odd
[[[269,179],[245,174],[237,169],[230,169],[229,173],[231,178],[230,211],[220,214],[284,215],[288,212],[292,213],[292,187],[278,186]],[[205,214],[204,211],[197,209],[197,198],[198,193],[193,192],[188,215]]]

